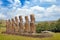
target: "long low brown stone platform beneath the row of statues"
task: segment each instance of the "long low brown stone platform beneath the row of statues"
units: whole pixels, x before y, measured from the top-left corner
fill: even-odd
[[[33,33],[33,34],[28,34],[28,33],[6,33],[6,32],[2,32],[3,34],[11,34],[11,35],[18,35],[18,36],[25,36],[25,37],[34,37],[34,38],[46,38],[46,37],[52,37],[53,34],[49,34],[49,33]]]

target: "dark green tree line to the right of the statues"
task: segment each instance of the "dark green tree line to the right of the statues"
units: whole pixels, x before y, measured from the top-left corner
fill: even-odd
[[[60,19],[57,21],[45,21],[36,24],[36,32],[40,33],[41,31],[60,32]]]

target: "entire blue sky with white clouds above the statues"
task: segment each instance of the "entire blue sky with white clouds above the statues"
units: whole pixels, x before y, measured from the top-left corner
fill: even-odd
[[[0,0],[0,19],[34,14],[36,21],[60,18],[60,0]]]

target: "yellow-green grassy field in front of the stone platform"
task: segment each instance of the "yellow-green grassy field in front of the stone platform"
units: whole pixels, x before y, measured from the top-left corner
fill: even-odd
[[[0,28],[0,40],[60,40],[60,33],[54,33],[53,37],[48,38],[32,38],[18,35],[2,34],[5,28]]]

